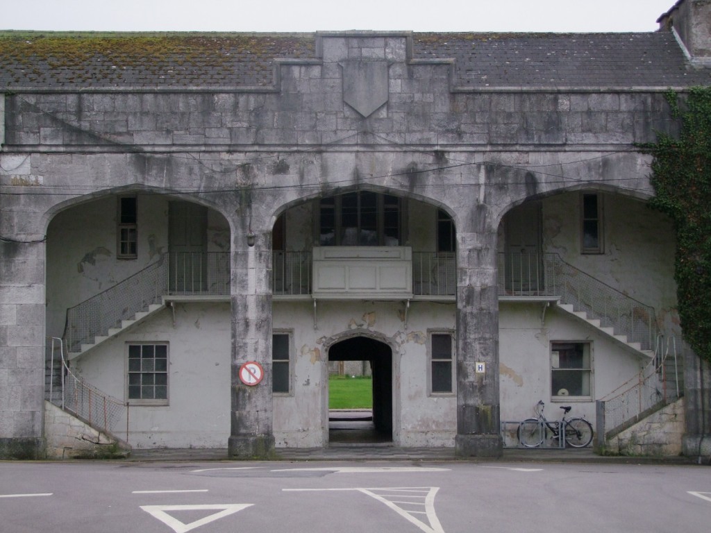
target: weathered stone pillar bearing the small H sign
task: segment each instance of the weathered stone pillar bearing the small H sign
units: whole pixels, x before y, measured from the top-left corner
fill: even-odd
[[[496,230],[458,232],[457,245],[455,451],[500,457]]]

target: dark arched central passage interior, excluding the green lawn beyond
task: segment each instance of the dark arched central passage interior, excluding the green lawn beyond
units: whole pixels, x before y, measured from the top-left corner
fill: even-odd
[[[367,337],[336,343],[328,350],[330,361],[366,361],[373,372],[373,411],[351,414],[332,411],[328,416],[328,441],[348,443],[392,442],[392,350]]]

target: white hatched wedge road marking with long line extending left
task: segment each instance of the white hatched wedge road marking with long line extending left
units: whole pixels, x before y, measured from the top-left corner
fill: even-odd
[[[437,513],[434,511],[434,496],[437,494],[439,487],[391,487],[391,488],[335,488],[335,489],[282,489],[284,491],[336,491],[336,490],[355,490],[363,492],[378,502],[384,503],[390,507],[398,515],[405,518],[408,522],[415,524],[424,533],[444,533],[442,524],[439,523]],[[410,500],[404,501],[403,498]],[[399,504],[399,505],[398,505]],[[409,507],[415,506],[415,510],[404,509],[400,505]],[[427,522],[415,517],[414,515],[424,515]]]

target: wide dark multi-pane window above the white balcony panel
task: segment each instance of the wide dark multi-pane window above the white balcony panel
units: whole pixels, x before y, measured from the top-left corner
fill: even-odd
[[[321,246],[400,246],[405,200],[359,190],[322,198],[316,217]]]

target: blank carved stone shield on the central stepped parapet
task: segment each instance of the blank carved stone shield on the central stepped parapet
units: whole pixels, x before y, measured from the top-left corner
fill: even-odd
[[[343,102],[369,117],[387,102],[387,61],[347,61],[343,68]]]

